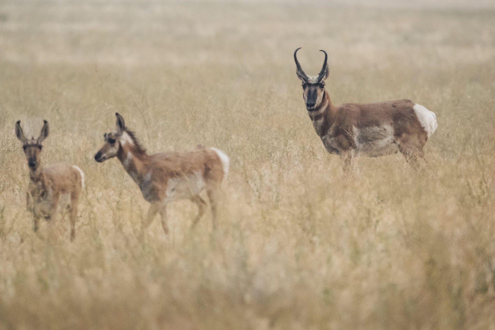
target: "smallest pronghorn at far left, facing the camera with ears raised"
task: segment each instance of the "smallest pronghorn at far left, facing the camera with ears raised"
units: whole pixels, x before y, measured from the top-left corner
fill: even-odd
[[[41,165],[42,142],[49,132],[48,122],[44,120],[38,139],[27,139],[21,128],[21,121],[15,124],[15,135],[22,142],[22,149],[29,166],[29,185],[26,193],[27,210],[34,215],[34,231],[38,231],[40,218],[49,220],[50,228],[59,211],[67,208],[70,219],[70,240],[76,235],[77,206],[79,195],[84,188],[84,173],[76,165],[57,163]],[[50,229],[50,231],[52,228]]]

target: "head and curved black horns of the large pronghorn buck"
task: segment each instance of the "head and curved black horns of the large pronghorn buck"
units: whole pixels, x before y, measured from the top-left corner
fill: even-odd
[[[325,53],[325,61],[321,68],[320,73],[317,76],[307,76],[301,68],[299,61],[297,60],[297,51],[300,50],[299,47],[294,52],[294,60],[296,61],[296,74],[297,77],[302,80],[302,96],[304,97],[304,102],[306,103],[306,109],[308,111],[314,111],[318,108],[325,95],[325,79],[328,78],[328,64],[327,64],[327,52]]]

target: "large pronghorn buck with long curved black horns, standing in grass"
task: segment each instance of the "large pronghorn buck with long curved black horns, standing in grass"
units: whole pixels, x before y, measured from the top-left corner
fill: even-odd
[[[331,154],[340,155],[344,169],[354,156],[378,157],[400,152],[416,166],[423,147],[437,129],[434,112],[409,100],[380,103],[345,103],[334,106],[325,90],[327,53],[317,76],[307,76],[294,52],[296,74],[302,80],[303,97],[316,133]]]

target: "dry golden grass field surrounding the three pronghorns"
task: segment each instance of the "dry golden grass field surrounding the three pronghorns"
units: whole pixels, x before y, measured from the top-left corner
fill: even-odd
[[[495,329],[491,8],[1,1],[0,329]],[[329,53],[335,104],[436,112],[428,164],[361,158],[345,176],[297,47],[308,74]],[[150,153],[230,156],[216,231],[209,212],[191,231],[183,201],[168,237],[158,219],[140,236],[148,203],[93,160],[116,111]],[[29,136],[49,121],[44,164],[86,173],[72,243],[67,218],[58,239],[32,231],[19,119]]]

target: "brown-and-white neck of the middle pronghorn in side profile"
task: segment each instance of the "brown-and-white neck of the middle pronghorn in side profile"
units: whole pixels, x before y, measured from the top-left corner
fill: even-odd
[[[134,182],[140,185],[146,175],[148,167],[149,156],[146,152],[139,150],[135,145],[126,143],[120,145],[119,151],[117,152],[117,158]]]

